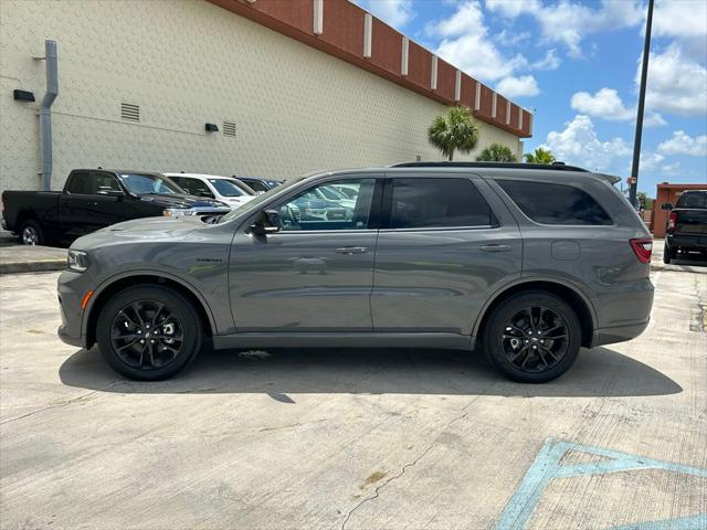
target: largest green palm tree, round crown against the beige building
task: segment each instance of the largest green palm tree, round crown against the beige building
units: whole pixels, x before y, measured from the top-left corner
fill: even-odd
[[[455,150],[469,152],[476,147],[478,125],[468,107],[450,107],[445,114],[432,120],[428,129],[428,140],[452,161]]]

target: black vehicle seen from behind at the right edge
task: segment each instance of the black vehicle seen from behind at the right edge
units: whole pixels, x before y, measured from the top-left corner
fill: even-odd
[[[666,202],[661,208],[671,212],[663,261],[671,263],[678,252],[707,254],[707,190],[685,191],[675,206]]]

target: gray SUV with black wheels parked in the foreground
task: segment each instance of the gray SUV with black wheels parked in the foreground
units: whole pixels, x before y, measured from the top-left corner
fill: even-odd
[[[613,182],[412,162],[291,180],[215,224],[116,224],[71,246],[59,335],[140,380],[173,375],[208,336],[215,349],[476,349],[513,380],[550,381],[581,347],[648,324],[652,240]],[[320,199],[341,186],[354,202]]]

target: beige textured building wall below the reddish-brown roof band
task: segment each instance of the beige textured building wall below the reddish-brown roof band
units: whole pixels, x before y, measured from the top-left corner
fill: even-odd
[[[60,78],[52,189],[77,167],[287,179],[441,157],[426,128],[443,105],[205,1],[1,0],[0,190],[41,184],[45,75],[32,56],[45,39]],[[36,103],[14,102],[14,88]],[[140,106],[139,123],[120,118],[122,103]],[[475,152],[519,152],[516,136],[479,127]]]

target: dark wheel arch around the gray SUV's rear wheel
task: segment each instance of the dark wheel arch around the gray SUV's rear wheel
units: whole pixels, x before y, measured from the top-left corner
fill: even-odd
[[[549,278],[523,278],[499,289],[490,297],[474,324],[472,336],[478,338],[483,332],[493,310],[504,300],[528,290],[545,290],[559,296],[577,312],[582,327],[582,346],[591,347],[597,330],[597,312],[589,297],[577,286]]]

